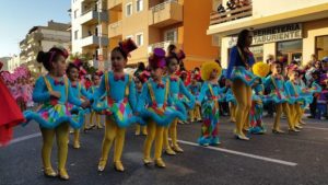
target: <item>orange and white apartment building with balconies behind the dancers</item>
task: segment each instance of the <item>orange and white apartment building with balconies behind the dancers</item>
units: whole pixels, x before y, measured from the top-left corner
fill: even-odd
[[[85,16],[81,10],[87,3],[92,4],[94,16],[89,16],[86,25],[81,21]],[[99,63],[110,66],[110,50],[130,37],[139,48],[131,53],[128,65],[136,66],[139,61],[147,63],[154,47],[175,44],[185,50],[185,65],[191,69],[218,57],[219,48],[213,46],[212,36],[207,35],[211,11],[210,0],[72,0],[72,51],[90,51],[97,60],[101,56],[105,61]],[[84,48],[90,45],[81,43],[90,34],[90,25],[96,27],[101,36],[93,39],[93,47],[87,50]]]

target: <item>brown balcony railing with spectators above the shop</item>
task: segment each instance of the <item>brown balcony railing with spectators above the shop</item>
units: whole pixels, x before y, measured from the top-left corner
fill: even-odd
[[[234,20],[238,20],[242,18],[247,18],[253,15],[253,5],[245,5],[242,8],[237,8],[235,10],[230,10],[224,13],[213,12],[211,13],[210,24],[221,24],[224,22],[230,22]]]

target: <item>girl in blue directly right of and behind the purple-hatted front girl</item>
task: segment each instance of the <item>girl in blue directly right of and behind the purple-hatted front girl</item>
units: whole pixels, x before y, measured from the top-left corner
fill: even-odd
[[[169,95],[175,104],[186,105],[188,109],[195,106],[195,96],[186,89],[181,79],[175,74],[178,70],[179,59],[175,54],[166,57],[167,77],[169,81]],[[187,111],[185,111],[187,112]],[[184,152],[184,150],[177,143],[177,122],[174,119],[169,128],[164,129],[164,148],[165,152],[169,155],[175,155],[176,152]],[[168,131],[171,134],[172,144],[168,142]]]

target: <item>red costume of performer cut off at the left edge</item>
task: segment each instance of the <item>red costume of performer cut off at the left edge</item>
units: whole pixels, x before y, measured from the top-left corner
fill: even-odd
[[[2,66],[3,63],[0,61],[0,70]],[[7,80],[2,79],[4,73],[9,74],[9,72],[1,71],[0,76],[0,147],[12,139],[13,127],[24,122],[20,107],[3,82],[3,80]]]

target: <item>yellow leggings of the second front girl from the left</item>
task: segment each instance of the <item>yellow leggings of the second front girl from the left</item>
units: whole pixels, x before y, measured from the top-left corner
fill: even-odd
[[[114,162],[120,161],[124,144],[125,144],[126,129],[119,128],[112,117],[106,116],[105,136],[103,140],[103,150],[101,161],[107,161],[108,153],[115,141]]]

